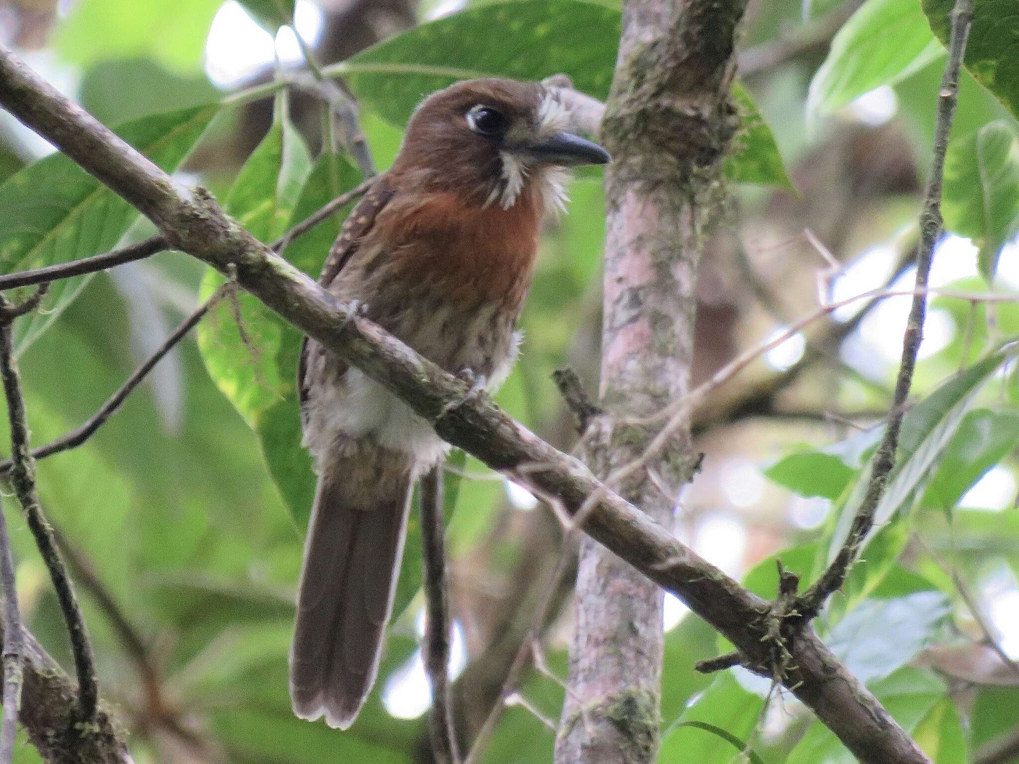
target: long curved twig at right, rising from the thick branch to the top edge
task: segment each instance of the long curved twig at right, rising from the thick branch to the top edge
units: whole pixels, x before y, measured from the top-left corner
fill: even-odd
[[[955,115],[956,102],[959,94],[959,70],[962,67],[963,53],[966,50],[966,40],[969,37],[970,21],[973,15],[973,0],[956,0],[952,9],[952,36],[949,43],[949,60],[945,65],[945,75],[942,77],[941,90],[937,94],[937,122],[934,127],[934,158],[930,167],[930,178],[927,181],[924,196],[923,211],[920,213],[920,245],[916,252],[916,291],[909,311],[909,320],[902,343],[902,362],[896,378],[895,393],[892,396],[892,412],[888,427],[874,455],[873,467],[867,483],[866,493],[849,535],[839,550],[835,559],[821,574],[820,578],[800,598],[799,610],[806,617],[816,615],[824,601],[838,591],[849,574],[849,568],[867,539],[874,525],[874,511],[884,494],[889,475],[895,468],[896,450],[899,445],[899,432],[905,413],[906,398],[913,382],[913,371],[916,368],[916,358],[923,337],[923,322],[926,318],[927,282],[930,276],[930,264],[933,260],[934,244],[942,233],[942,179],[945,171],[945,153],[948,150],[949,133],[952,129],[952,119]]]

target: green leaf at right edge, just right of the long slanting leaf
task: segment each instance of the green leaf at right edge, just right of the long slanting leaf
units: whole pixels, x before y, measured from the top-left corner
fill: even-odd
[[[986,408],[970,412],[937,459],[923,506],[950,509],[991,467],[1019,443],[1019,415]]]

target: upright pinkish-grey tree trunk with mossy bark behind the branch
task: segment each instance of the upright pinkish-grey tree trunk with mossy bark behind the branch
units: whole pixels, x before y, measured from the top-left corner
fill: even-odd
[[[606,172],[601,404],[587,461],[602,478],[657,428],[613,425],[689,392],[697,266],[722,201],[721,161],[745,0],[629,0],[602,142]],[[689,427],[611,487],[668,527],[695,459]],[[654,478],[651,475],[654,475]],[[658,749],[662,592],[586,538],[557,764],[646,764]]]

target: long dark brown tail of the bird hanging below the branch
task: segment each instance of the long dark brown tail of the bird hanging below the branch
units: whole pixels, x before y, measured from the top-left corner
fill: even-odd
[[[354,485],[344,492],[344,476],[357,467],[338,461],[322,471],[312,506],[290,649],[290,701],[298,716],[314,721],[324,715],[329,726],[346,729],[378,672],[412,481],[406,471],[390,473],[366,507],[363,494],[346,495],[359,490]]]

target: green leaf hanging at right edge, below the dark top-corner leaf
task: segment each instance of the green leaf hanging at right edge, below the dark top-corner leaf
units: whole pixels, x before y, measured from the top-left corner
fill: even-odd
[[[949,147],[945,224],[980,248],[980,273],[994,281],[1002,247],[1019,232],[1019,138],[1004,120]]]

